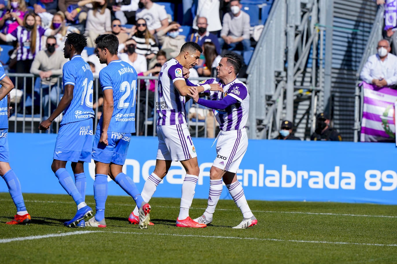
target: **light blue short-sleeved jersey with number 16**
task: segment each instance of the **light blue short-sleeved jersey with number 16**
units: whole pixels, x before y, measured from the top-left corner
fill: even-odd
[[[93,111],[93,72],[90,65],[80,55],[64,64],[62,81],[65,86],[71,84],[73,99],[64,111],[61,125],[94,117]]]

